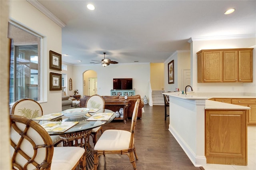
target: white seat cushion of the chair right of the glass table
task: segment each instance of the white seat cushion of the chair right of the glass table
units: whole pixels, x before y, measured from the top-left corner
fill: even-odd
[[[100,136],[95,150],[122,150],[129,148],[131,133],[126,130],[109,129]]]

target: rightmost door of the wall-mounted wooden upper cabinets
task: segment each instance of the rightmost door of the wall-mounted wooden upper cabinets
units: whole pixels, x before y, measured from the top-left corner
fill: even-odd
[[[252,82],[252,50],[238,51],[238,81]]]

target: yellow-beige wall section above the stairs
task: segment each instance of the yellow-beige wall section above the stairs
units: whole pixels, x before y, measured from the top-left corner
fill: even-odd
[[[150,83],[152,90],[164,90],[164,63],[150,63]]]

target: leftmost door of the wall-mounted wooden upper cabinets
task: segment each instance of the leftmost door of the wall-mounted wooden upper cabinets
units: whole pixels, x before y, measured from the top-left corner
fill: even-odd
[[[222,53],[203,52],[203,82],[222,82]]]

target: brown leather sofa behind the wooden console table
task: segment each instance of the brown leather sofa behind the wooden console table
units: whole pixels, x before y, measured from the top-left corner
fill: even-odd
[[[84,95],[83,98],[80,99],[80,107],[85,107],[86,101],[90,96]],[[120,101],[120,100],[125,100],[123,96],[102,96],[105,101],[111,100],[111,101]],[[130,101],[130,105],[127,110],[127,117],[131,118],[132,113],[135,107],[135,103],[137,99],[141,99],[140,95],[134,95],[134,96],[128,96],[127,101]],[[142,108],[144,107],[143,101],[140,102],[139,104],[139,110],[138,110],[138,118],[142,118]],[[105,108],[108,109],[108,106],[105,105]]]

